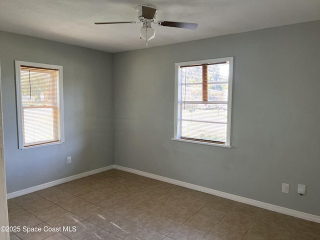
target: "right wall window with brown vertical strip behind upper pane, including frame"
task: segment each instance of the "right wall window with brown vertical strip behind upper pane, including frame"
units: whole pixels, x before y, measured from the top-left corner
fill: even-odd
[[[173,140],[230,147],[233,57],[175,63]]]

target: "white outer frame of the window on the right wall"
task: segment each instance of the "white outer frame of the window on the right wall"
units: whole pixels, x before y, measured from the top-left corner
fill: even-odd
[[[227,99],[227,121],[226,121],[226,139],[225,143],[214,143],[214,142],[206,142],[201,140],[189,140],[180,138],[180,118],[181,118],[181,92],[180,92],[180,75],[179,69],[180,66],[186,65],[198,65],[198,64],[208,64],[208,63],[217,63],[217,62],[229,62],[229,78],[228,78],[228,99]],[[172,140],[198,143],[204,145],[213,145],[213,146],[221,146],[221,147],[231,147],[230,138],[231,138],[231,108],[232,108],[232,82],[233,82],[233,56],[228,57],[219,57],[212,59],[203,59],[203,60],[195,60],[195,61],[183,61],[183,62],[175,62],[174,63],[174,133]]]

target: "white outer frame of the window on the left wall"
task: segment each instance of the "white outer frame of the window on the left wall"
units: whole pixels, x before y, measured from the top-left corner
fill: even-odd
[[[29,61],[20,61],[15,60],[15,85],[16,85],[16,110],[17,110],[17,130],[18,130],[18,149],[29,149],[40,146],[48,146],[55,145],[64,142],[64,116],[63,116],[63,72],[61,65],[53,65],[53,64],[45,64],[45,63],[37,63],[37,62],[29,62]],[[23,121],[22,121],[22,94],[21,94],[21,71],[20,66],[30,66],[30,67],[40,67],[40,68],[50,68],[50,69],[58,69],[58,77],[59,77],[59,113],[60,113],[60,140],[58,142],[46,142],[40,143],[31,146],[23,145]]]

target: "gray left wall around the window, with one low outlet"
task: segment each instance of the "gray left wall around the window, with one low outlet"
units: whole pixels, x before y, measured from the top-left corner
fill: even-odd
[[[0,60],[8,193],[113,164],[112,54],[0,31]],[[64,143],[18,149],[14,60],[63,66]]]

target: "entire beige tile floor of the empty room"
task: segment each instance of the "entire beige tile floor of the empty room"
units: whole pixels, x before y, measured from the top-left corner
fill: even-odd
[[[9,199],[8,208],[10,226],[42,229],[11,240],[320,239],[318,223],[115,169]]]

